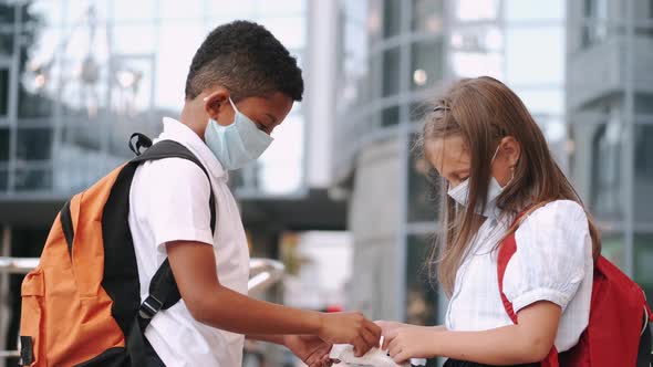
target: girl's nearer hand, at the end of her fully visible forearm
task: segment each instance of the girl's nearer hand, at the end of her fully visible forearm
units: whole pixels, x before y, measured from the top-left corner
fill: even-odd
[[[395,325],[396,326],[396,325]],[[402,324],[383,333],[383,348],[387,349],[395,363],[402,364],[411,358],[432,358],[436,356],[437,334],[432,326]]]

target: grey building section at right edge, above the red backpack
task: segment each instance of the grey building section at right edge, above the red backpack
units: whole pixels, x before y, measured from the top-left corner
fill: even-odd
[[[653,2],[568,3],[571,172],[603,254],[653,300]]]

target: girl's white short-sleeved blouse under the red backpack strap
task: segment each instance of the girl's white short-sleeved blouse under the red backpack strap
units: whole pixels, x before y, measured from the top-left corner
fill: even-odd
[[[496,244],[509,220],[488,219],[456,273],[446,312],[450,331],[486,331],[511,325],[497,280]],[[504,276],[515,312],[549,301],[562,307],[556,336],[559,352],[574,346],[588,325],[592,295],[592,241],[583,208],[558,200],[535,210],[515,233],[517,252]]]

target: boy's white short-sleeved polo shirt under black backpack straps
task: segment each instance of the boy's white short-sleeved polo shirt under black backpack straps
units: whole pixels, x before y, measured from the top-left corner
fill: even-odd
[[[141,300],[166,259],[166,242],[198,241],[213,245],[220,284],[247,294],[249,250],[240,213],[227,187],[227,172],[206,144],[186,125],[164,118],[164,132],[154,141],[175,140],[206,167],[182,158],[148,161],[136,169],[129,193],[129,228],[134,240]],[[209,195],[216,198],[216,233],[210,230]],[[160,311],[145,336],[167,366],[242,364],[242,335],[220,331],[193,318],[180,300]]]

